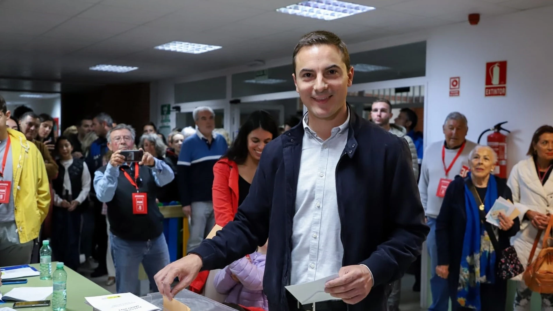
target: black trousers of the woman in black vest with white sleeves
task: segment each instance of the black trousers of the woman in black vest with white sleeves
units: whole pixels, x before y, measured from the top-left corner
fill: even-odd
[[[66,208],[55,206],[52,210],[51,228],[54,259],[76,271],[80,264],[81,213],[78,209],[69,212]]]

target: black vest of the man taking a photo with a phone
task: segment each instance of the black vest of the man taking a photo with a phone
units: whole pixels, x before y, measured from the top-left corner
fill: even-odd
[[[105,173],[106,165],[98,168],[98,171]],[[128,166],[126,171],[134,179],[134,171]],[[155,203],[158,186],[152,175],[152,168],[140,166],[142,184],[139,191],[148,194],[148,214],[133,214],[132,193],[137,189],[127,180],[124,173],[119,170],[117,188],[113,199],[107,202],[107,217],[111,232],[124,240],[147,241],[158,238],[163,233],[163,214],[159,212],[158,204]],[[134,165],[133,165],[134,170]]]

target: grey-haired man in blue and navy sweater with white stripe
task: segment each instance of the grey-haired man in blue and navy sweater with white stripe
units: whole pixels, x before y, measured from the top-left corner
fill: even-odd
[[[182,143],[178,166],[182,212],[190,218],[190,237],[186,249],[194,250],[215,225],[211,187],[213,165],[227,151],[227,141],[213,133],[215,112],[198,107],[192,112],[196,134]]]

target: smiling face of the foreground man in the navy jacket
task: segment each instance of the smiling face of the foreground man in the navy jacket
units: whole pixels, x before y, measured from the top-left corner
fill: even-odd
[[[353,67],[346,68],[336,46],[321,44],[301,48],[295,57],[294,83],[310,118],[332,120],[346,107]]]

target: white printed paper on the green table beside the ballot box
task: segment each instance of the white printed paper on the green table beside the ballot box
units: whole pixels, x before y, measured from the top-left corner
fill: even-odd
[[[86,304],[95,311],[160,311],[155,305],[132,293],[85,297]]]

